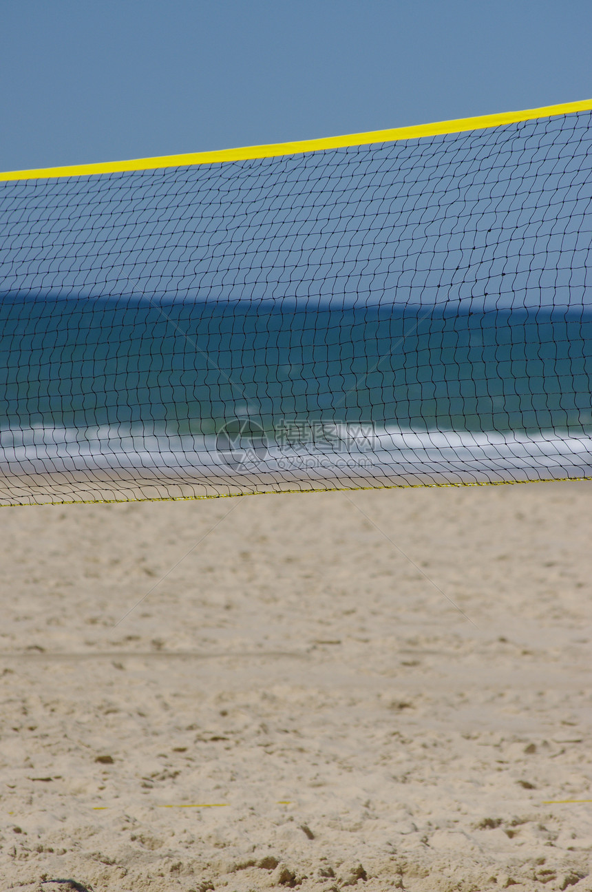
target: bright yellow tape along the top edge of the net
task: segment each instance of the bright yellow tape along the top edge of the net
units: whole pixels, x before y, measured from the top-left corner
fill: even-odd
[[[221,149],[218,152],[162,155],[160,158],[137,158],[135,161],[106,161],[99,164],[74,164],[71,167],[11,170],[7,173],[0,173],[0,181],[49,179],[54,177],[89,177],[93,174],[120,173],[125,170],[156,170],[169,167],[189,167],[193,164],[222,164],[225,161],[277,158],[281,155],[323,152],[326,149],[341,149],[353,145],[394,143],[399,139],[419,139],[422,136],[441,136],[445,133],[464,133],[467,130],[504,127],[506,124],[515,124],[522,120],[552,118],[555,115],[590,110],[592,110],[592,99],[584,99],[579,103],[547,105],[544,108],[528,109],[527,111],[506,111],[503,114],[481,115],[478,118],[443,120],[435,124],[418,124],[415,127],[399,127],[391,130],[371,130],[369,133],[329,136],[325,139],[304,139],[295,143],[250,145],[242,149]]]

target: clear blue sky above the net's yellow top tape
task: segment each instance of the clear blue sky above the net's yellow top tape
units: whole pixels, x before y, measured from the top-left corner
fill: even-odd
[[[3,170],[592,96],[590,0],[19,0],[0,29]]]

